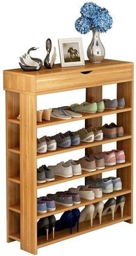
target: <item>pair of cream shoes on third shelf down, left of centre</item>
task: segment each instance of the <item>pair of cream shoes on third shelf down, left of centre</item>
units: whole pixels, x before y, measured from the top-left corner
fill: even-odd
[[[82,168],[80,164],[76,164],[73,160],[67,162],[61,162],[57,165],[49,165],[48,168],[54,171],[54,175],[64,178],[71,178],[73,175],[81,175]]]

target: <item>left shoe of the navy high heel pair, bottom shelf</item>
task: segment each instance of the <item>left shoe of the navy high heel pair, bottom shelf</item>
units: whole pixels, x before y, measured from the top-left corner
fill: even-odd
[[[56,221],[55,230],[60,231],[65,228],[70,228],[70,233],[72,234],[72,224],[73,224],[73,213],[72,211],[65,211],[61,218]]]

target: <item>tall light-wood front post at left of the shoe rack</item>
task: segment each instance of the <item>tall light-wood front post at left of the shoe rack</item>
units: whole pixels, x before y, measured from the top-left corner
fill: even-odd
[[[36,96],[20,94],[21,249],[37,253]]]

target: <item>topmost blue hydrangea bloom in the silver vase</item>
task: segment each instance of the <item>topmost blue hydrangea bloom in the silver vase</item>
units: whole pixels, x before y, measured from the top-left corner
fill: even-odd
[[[96,5],[95,3],[87,2],[87,3],[84,3],[82,8],[80,9],[80,13],[84,17],[93,19],[93,17],[95,17],[95,15],[97,15],[97,13],[100,9],[101,8],[98,5]]]

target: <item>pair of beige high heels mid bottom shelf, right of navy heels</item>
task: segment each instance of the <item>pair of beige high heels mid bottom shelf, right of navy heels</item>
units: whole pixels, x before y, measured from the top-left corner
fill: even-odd
[[[104,209],[104,203],[98,202],[96,204],[90,204],[84,207],[84,209],[80,212],[79,222],[89,221],[91,226],[93,226],[93,219],[97,216],[99,217],[99,221],[101,224],[102,211]]]

